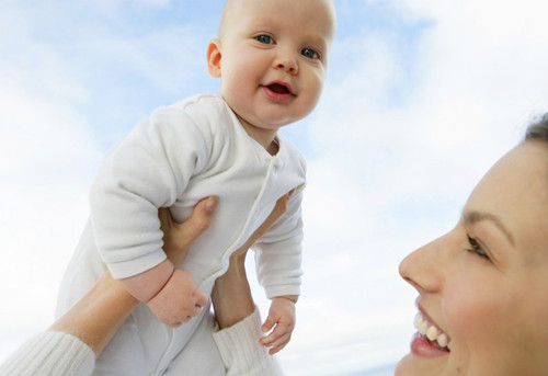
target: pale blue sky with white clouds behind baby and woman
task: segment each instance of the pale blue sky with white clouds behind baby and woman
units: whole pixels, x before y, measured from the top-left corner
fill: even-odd
[[[320,103],[282,129],[308,185],[302,295],[279,360],[288,375],[390,375],[416,312],[399,262],[457,223],[548,112],[548,2],[334,3]],[[218,92],[205,52],[221,7],[0,0],[0,360],[53,322],[109,148],[155,107]]]

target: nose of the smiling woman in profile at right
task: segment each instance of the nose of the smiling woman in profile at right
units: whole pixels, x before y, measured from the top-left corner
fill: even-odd
[[[435,293],[444,283],[444,238],[423,246],[404,258],[399,267],[400,275],[419,293]]]

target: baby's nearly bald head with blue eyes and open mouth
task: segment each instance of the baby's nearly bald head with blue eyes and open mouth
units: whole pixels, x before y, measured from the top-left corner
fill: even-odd
[[[313,110],[335,27],[331,0],[227,0],[208,70],[248,133],[275,134]]]

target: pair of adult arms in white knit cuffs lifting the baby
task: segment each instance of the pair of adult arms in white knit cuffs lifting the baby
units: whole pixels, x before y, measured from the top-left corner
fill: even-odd
[[[278,200],[269,218],[235,252],[229,270],[217,280],[213,290],[220,329],[213,335],[227,375],[282,375],[275,358],[259,344],[261,319],[251,297],[244,259],[251,244],[285,212],[290,194]],[[160,209],[163,249],[173,264],[179,265],[184,260],[189,246],[207,229],[217,202],[217,197],[201,201],[184,224],[173,223],[168,209]],[[0,375],[91,375],[95,357],[138,304],[119,281],[105,273],[65,316],[0,365]],[[198,312],[196,307],[193,316]]]

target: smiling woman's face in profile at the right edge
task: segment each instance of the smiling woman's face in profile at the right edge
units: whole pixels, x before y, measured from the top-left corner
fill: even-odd
[[[400,274],[419,292],[426,334],[396,375],[548,375],[548,147],[527,141],[504,156],[458,225]]]

